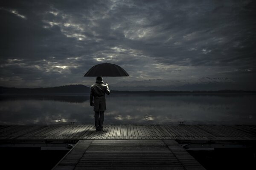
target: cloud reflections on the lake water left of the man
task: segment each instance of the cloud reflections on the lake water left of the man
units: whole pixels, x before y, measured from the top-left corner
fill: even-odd
[[[89,102],[78,104],[36,99],[0,101],[0,124],[56,124],[74,120],[81,124],[93,124],[93,118],[94,112]]]

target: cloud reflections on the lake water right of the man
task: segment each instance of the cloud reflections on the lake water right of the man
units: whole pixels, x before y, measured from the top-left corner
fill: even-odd
[[[255,97],[254,97],[255,98]],[[221,123],[234,124],[235,122],[247,122],[248,117],[241,115],[253,113],[254,109],[246,107],[248,104],[244,97],[223,97],[207,95],[116,95],[108,98],[108,110],[118,111],[120,115],[132,116],[134,119],[123,119],[117,123],[159,123],[168,124],[177,121],[186,121],[187,124],[194,122],[201,123]],[[247,98],[248,101],[250,98]],[[233,111],[233,112],[230,112]],[[146,116],[145,113],[147,113]],[[236,119],[233,114],[240,115]],[[135,118],[136,116],[136,118]],[[233,119],[229,119],[233,116]],[[227,119],[228,118],[228,119]],[[111,119],[111,118],[110,118]],[[148,120],[150,120],[148,122]],[[116,121],[111,119],[110,121]],[[227,122],[229,121],[229,122]],[[250,122],[252,122],[250,120]]]

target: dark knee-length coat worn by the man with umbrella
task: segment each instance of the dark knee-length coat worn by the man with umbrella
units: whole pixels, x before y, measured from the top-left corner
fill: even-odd
[[[109,95],[110,90],[108,86],[103,83],[103,81],[96,80],[96,83],[91,86],[90,105],[93,105],[93,111],[107,110],[105,94]]]

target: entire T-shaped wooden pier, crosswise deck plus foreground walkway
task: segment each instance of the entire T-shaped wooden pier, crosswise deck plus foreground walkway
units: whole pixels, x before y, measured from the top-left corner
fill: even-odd
[[[255,125],[0,125],[0,147],[69,150],[54,170],[204,170],[187,149],[255,143]]]

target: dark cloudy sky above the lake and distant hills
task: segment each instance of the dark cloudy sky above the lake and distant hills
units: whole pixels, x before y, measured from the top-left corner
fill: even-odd
[[[253,0],[1,0],[0,86],[90,87],[108,62],[116,90],[256,90],[255,18]]]

